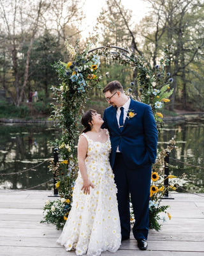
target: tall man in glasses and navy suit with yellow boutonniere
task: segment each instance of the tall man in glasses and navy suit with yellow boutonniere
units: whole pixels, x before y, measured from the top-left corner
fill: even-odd
[[[103,89],[110,106],[105,109],[102,128],[110,132],[110,163],[118,193],[122,240],[131,231],[129,193],[135,214],[133,235],[140,250],[147,250],[151,164],[157,153],[157,128],[149,105],[128,97],[119,81]]]

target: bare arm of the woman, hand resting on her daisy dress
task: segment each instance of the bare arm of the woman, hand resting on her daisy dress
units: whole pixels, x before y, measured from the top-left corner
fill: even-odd
[[[91,188],[94,188],[94,185],[88,179],[87,168],[85,166],[85,157],[87,155],[87,148],[88,148],[88,143],[86,138],[84,136],[80,136],[78,140],[77,154],[78,154],[78,167],[82,175],[82,179],[84,181],[84,184],[82,186],[82,190],[84,189],[84,194],[90,193],[90,186]]]

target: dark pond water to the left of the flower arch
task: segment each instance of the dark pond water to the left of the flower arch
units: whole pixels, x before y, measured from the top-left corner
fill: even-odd
[[[0,170],[1,173],[17,173],[52,157],[50,140],[60,136],[57,129],[36,124],[5,124],[0,125]],[[15,175],[1,175],[0,189],[31,188],[52,179],[45,162],[36,169]],[[37,189],[51,189],[45,184]]]

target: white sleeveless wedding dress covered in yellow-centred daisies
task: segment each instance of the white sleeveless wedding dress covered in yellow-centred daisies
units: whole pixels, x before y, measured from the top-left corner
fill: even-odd
[[[84,133],[81,136],[88,141],[85,165],[94,189],[90,187],[90,195],[84,195],[82,176],[78,172],[71,211],[57,243],[67,251],[76,250],[77,255],[100,255],[106,250],[116,252],[121,235],[117,188],[109,163],[109,134],[105,143],[93,141]]]

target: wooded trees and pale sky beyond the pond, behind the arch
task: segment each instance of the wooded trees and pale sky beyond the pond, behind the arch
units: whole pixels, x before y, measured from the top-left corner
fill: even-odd
[[[173,115],[175,109],[204,110],[204,1],[144,0],[149,12],[139,24],[133,12],[121,1],[106,1],[93,35],[97,46],[115,45],[144,55],[151,65],[158,65],[166,45],[173,45],[168,72],[173,77],[171,101],[163,110]],[[86,44],[82,37],[85,19],[82,0],[0,0],[0,118],[41,118],[51,112],[52,85],[57,75],[52,65],[69,61],[64,42]],[[92,10],[94,12],[94,4]],[[87,35],[88,37],[89,35]],[[119,65],[111,58],[101,58],[109,81],[119,80],[128,90],[136,70]],[[109,75],[108,75],[109,74]],[[37,91],[37,102],[28,102],[29,93]],[[3,96],[2,96],[3,95]],[[89,93],[87,108],[99,113],[107,107],[100,88]]]

